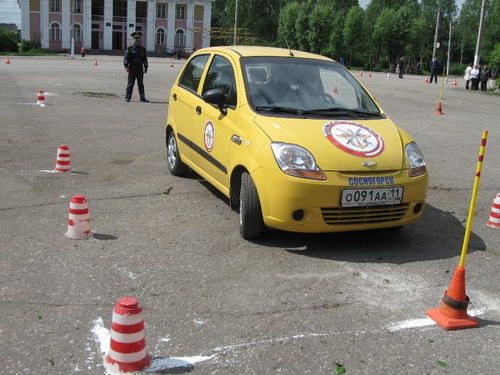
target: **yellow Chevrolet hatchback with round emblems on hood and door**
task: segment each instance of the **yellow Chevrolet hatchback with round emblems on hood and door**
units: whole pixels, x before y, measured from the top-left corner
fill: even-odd
[[[170,172],[188,168],[264,229],[400,227],[423,213],[427,168],[413,139],[341,64],[294,50],[205,48],[170,92]]]

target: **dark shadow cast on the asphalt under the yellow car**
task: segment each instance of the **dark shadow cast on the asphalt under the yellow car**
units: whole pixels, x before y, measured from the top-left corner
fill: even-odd
[[[254,242],[314,258],[404,264],[460,256],[464,234],[464,224],[452,212],[427,204],[420,221],[400,229],[329,234],[267,231]],[[483,240],[471,233],[468,252],[484,250]]]

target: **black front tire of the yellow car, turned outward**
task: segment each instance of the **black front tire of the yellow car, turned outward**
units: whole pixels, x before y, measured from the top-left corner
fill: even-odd
[[[241,175],[240,234],[248,240],[259,238],[264,231],[264,220],[257,188],[246,172]]]

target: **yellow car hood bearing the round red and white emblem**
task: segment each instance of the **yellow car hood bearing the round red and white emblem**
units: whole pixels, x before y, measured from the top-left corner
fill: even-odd
[[[324,171],[394,171],[402,168],[404,145],[389,119],[325,120],[257,115],[272,142],[300,145]]]

